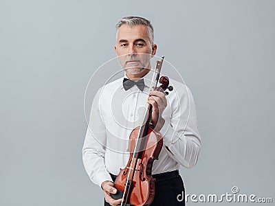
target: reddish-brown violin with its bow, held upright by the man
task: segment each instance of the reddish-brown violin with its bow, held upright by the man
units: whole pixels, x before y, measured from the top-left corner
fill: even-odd
[[[159,78],[163,60],[164,56],[156,62],[157,75],[153,90],[162,91],[168,95],[165,90],[173,90],[173,87],[169,86],[168,77]],[[161,84],[159,87],[157,82]],[[155,179],[151,175],[151,170],[153,161],[158,159],[159,152],[162,150],[163,140],[162,135],[151,124],[152,108],[153,106],[148,104],[142,126],[138,126],[131,132],[129,161],[124,169],[120,168],[115,179],[114,187],[118,192],[111,196],[115,199],[122,198],[120,206],[150,205],[155,196]]]

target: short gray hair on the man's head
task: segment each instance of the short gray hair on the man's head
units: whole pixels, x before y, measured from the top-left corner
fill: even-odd
[[[125,16],[118,23],[115,25],[116,29],[118,30],[119,27],[122,25],[145,25],[148,29],[149,41],[153,45],[154,42],[154,29],[153,25],[147,19],[140,17],[140,16]]]

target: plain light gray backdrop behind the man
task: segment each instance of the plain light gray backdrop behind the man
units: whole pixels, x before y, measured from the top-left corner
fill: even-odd
[[[2,0],[0,205],[102,205],[82,163],[84,94],[115,56],[115,23],[127,15],[151,19],[157,55],[194,95],[202,150],[195,168],[180,170],[187,193],[237,186],[274,199],[274,6]]]

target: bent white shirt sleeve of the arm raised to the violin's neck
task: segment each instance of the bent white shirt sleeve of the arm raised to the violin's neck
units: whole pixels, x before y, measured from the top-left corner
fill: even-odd
[[[172,110],[164,117],[165,123],[160,130],[164,148],[175,161],[186,168],[192,168],[199,157],[201,138],[190,89],[178,89],[177,98],[172,100],[171,105]]]

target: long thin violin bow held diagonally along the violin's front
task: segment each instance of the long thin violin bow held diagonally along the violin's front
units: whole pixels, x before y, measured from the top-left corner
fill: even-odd
[[[156,66],[155,69],[154,69],[154,73],[153,73],[153,76],[152,76],[152,79],[151,79],[151,83],[150,83],[150,87],[149,87],[149,93],[150,93],[151,89],[153,88],[153,82],[154,82],[156,73],[157,73],[157,66]],[[157,85],[157,82],[155,82],[155,86],[156,86],[156,85]],[[153,88],[153,90],[155,90],[155,88]],[[149,93],[148,93],[148,96],[149,96]],[[144,110],[144,112],[143,112],[143,119],[145,119],[146,111],[148,111],[148,107],[149,107],[149,104],[148,104],[148,102],[146,102],[146,108],[147,108],[147,109]],[[142,128],[142,127],[140,126],[140,130],[141,130],[141,128]],[[137,142],[139,141],[138,137],[140,137],[140,130],[138,131],[137,139],[136,139],[136,141],[135,141],[135,148],[134,148],[134,150],[133,150],[133,155],[135,154],[135,152],[136,152],[136,150],[137,150]],[[131,141],[131,140],[129,140],[129,141]],[[134,168],[132,168],[132,167],[133,167],[133,157],[132,157],[132,160],[131,160],[131,165],[130,165],[130,168],[129,168],[129,173],[128,173],[128,175],[127,175],[126,185],[127,185],[128,181],[129,181],[129,179],[130,179],[131,170],[134,170]],[[128,191],[129,191],[129,190],[128,190]],[[123,195],[122,195],[122,202],[121,202],[121,205],[120,205],[120,206],[123,206],[122,204],[123,204],[123,201],[124,201],[124,196],[125,196],[125,194],[126,194],[126,187],[124,187],[124,192],[123,192]]]

